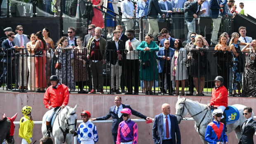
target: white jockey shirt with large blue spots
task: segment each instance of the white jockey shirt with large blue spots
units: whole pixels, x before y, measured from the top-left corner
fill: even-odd
[[[94,141],[96,143],[98,141],[96,126],[90,121],[87,121],[86,123],[81,123],[78,126],[77,133],[77,140],[79,143],[86,143],[90,141]]]

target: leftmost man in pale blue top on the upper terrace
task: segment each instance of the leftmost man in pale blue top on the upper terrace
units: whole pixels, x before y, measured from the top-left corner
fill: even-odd
[[[121,12],[122,12],[122,21],[124,26],[126,27],[126,32],[128,29],[133,28],[133,18],[135,14],[135,9],[133,7],[133,2],[131,0],[123,0],[121,2]]]

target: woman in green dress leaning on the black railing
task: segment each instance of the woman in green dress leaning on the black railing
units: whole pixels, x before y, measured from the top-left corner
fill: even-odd
[[[141,42],[137,47],[137,50],[142,51],[140,53],[140,80],[143,80],[146,87],[146,94],[153,94],[152,86],[154,80],[158,80],[158,70],[156,62],[156,51],[159,47],[156,42],[151,40],[152,35],[147,34],[145,41]]]

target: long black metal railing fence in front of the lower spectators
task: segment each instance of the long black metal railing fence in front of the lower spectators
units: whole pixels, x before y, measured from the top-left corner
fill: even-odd
[[[242,96],[255,96],[256,63],[251,52],[237,52],[239,56],[234,57],[232,52],[183,49],[154,51],[148,57],[146,52],[141,54],[137,50],[104,50],[106,59],[102,60],[100,51],[93,50],[94,55],[90,57],[92,50],[88,53],[86,48],[58,49],[57,53],[43,50],[43,55],[10,54],[9,49],[3,48],[1,90],[44,92],[50,86],[50,76],[56,74],[71,92],[88,93],[94,88],[96,92],[103,89],[109,94],[120,94],[121,87],[126,87],[125,92],[142,93],[143,86],[139,86],[142,80],[149,94],[169,94],[172,90],[170,94],[194,91],[200,95],[211,94],[214,78],[222,76],[229,92],[242,90]]]

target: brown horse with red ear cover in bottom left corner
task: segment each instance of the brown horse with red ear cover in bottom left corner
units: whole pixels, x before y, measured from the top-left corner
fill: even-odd
[[[12,118],[7,118],[4,114],[3,119],[0,120],[0,144],[2,144],[4,140],[6,144],[14,144],[13,133],[15,126],[13,121],[15,120],[16,116],[17,113]],[[11,128],[11,125],[13,128]]]

